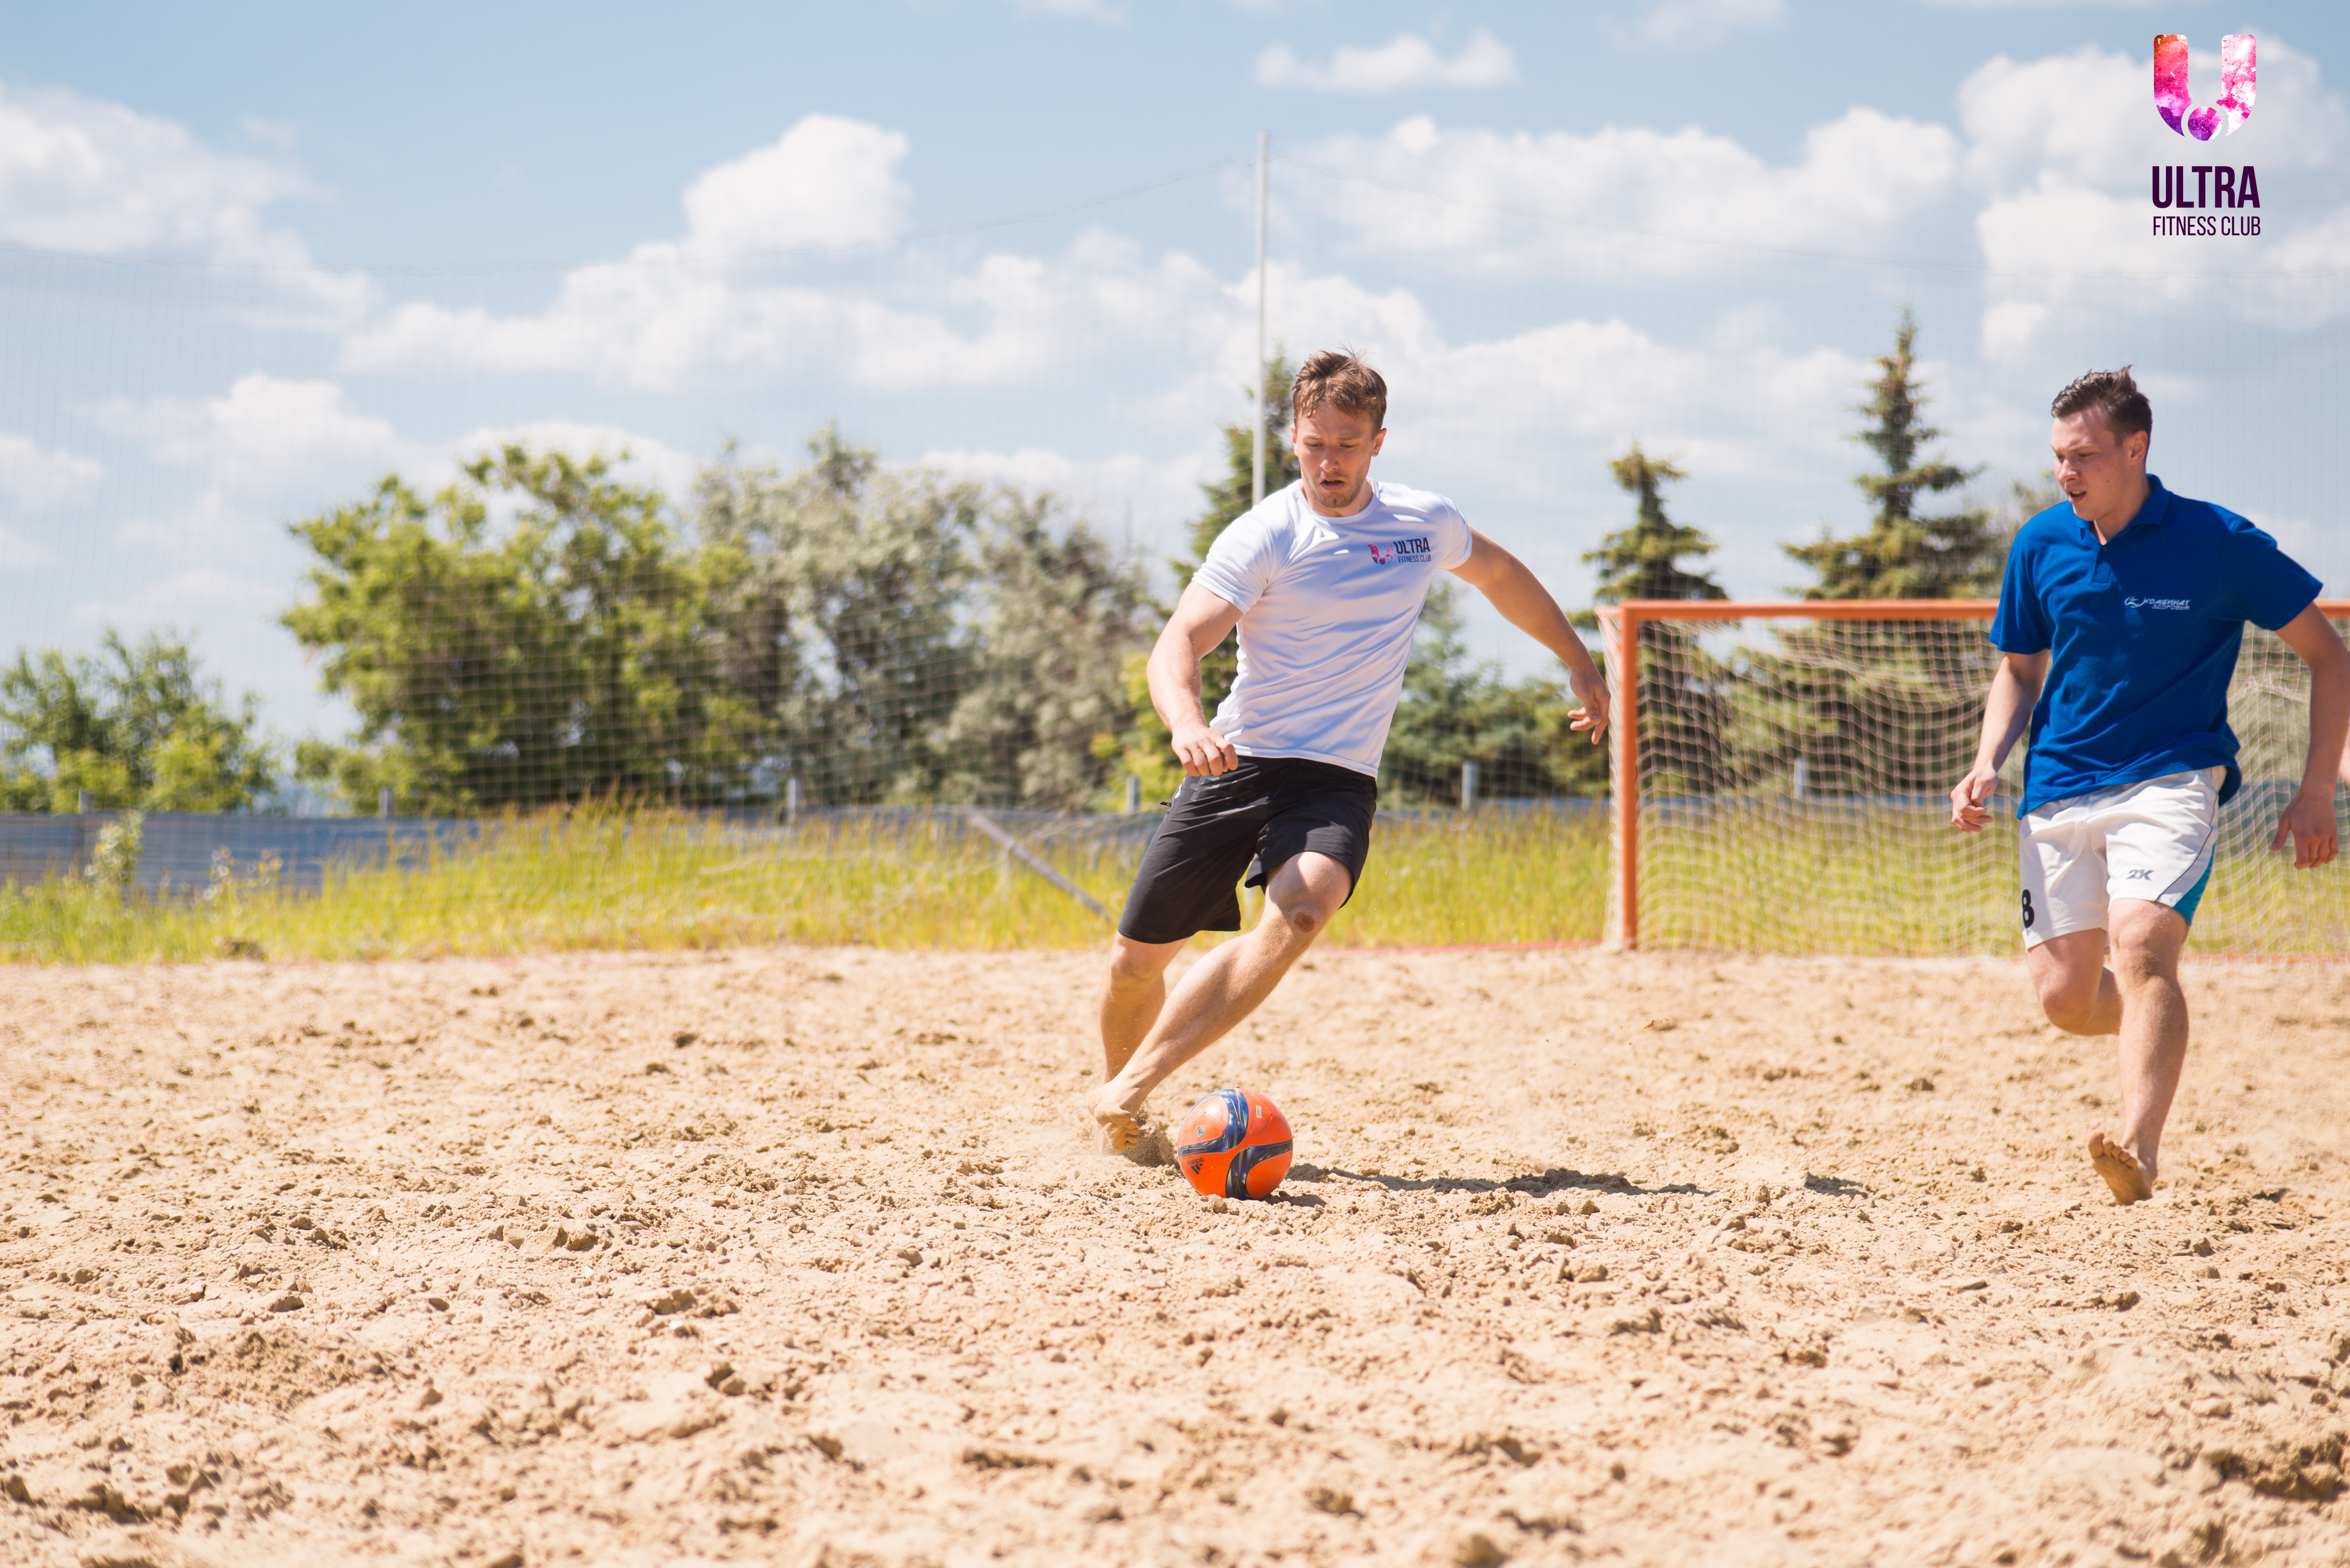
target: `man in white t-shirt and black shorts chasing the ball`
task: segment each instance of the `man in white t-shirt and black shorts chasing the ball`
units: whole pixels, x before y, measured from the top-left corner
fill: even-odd
[[[1386,441],[1386,383],[1354,354],[1307,359],[1290,390],[1300,481],[1267,495],[1208,549],[1152,650],[1152,707],[1184,782],[1142,857],[1102,991],[1109,1150],[1142,1155],[1144,1099],[1271,995],[1354,897],[1370,854],[1379,751],[1438,570],[1455,573],[1567,667],[1572,728],[1598,742],[1607,688],[1558,601],[1443,495],[1370,479]],[[1241,671],[1215,714],[1198,662],[1241,629]],[[1264,887],[1264,918],[1201,958],[1168,995],[1194,932],[1241,930],[1234,885]]]

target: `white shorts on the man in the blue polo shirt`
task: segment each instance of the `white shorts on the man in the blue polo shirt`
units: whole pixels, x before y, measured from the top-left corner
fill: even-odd
[[[2190,925],[2218,850],[2223,768],[2049,800],[2023,817],[2023,946],[2106,930],[2113,899],[2176,908]]]

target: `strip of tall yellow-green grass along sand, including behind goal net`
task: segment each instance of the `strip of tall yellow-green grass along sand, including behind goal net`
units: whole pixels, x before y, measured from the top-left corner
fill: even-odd
[[[1029,826],[1029,843],[1119,911],[1140,824]],[[1920,812],[1650,812],[1643,944],[1753,953],[2014,953],[2014,840]],[[1598,815],[1382,817],[1332,946],[1596,941]],[[1250,911],[1262,899],[1250,899]],[[1109,925],[947,815],[848,817],[794,831],[634,812],[529,817],[414,864],[343,864],[315,894],[266,876],[207,897],[139,897],[103,878],[0,887],[0,958],[430,958],[573,948],[860,944],[1086,948]],[[1201,937],[1215,941],[1217,937]],[[2350,873],[2294,873],[2249,840],[2221,854],[2195,953],[2350,953]]]

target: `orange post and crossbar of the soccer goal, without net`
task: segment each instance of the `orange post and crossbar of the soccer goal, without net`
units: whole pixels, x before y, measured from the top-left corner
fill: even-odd
[[[1614,683],[1607,812],[1614,817],[1614,913],[1607,946],[1640,946],[1640,624],[1652,620],[1981,620],[1995,599],[1629,599],[1593,606],[1607,638]],[[2329,620],[2350,617],[2350,601],[2319,599]]]

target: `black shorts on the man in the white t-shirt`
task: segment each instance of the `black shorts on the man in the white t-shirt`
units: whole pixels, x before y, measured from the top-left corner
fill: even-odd
[[[1262,887],[1307,850],[1347,866],[1351,899],[1370,859],[1377,805],[1379,782],[1368,772],[1302,756],[1243,756],[1231,772],[1189,777],[1142,854],[1119,934],[1184,941],[1194,932],[1236,932],[1241,871]]]

